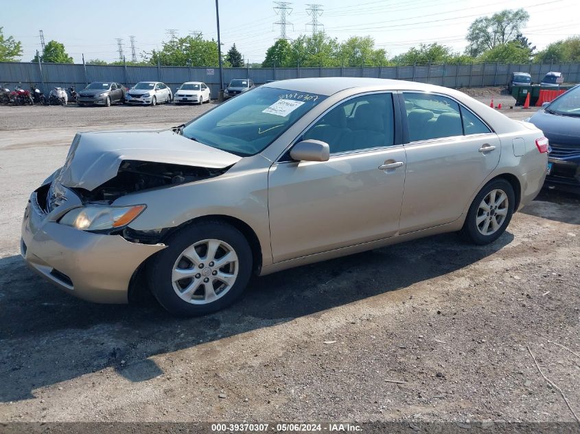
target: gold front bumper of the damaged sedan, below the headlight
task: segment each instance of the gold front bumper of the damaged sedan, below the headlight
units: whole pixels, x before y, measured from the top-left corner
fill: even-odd
[[[32,193],[22,222],[21,254],[27,265],[73,296],[126,303],[137,267],[165,245],[131,243],[51,221]]]

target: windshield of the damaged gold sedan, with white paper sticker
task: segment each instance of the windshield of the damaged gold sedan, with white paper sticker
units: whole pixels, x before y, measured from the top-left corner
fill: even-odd
[[[258,87],[198,117],[182,134],[231,154],[251,156],[266,149],[324,99],[314,93]]]

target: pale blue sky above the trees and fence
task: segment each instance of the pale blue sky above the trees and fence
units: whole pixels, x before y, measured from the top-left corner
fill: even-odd
[[[395,56],[419,43],[439,42],[456,51],[465,48],[467,27],[478,16],[504,8],[523,6],[530,14],[524,34],[542,49],[549,43],[580,32],[578,0],[305,0],[292,1],[287,16],[288,38],[312,32],[308,3],[321,4],[318,16],[325,31],[339,40],[349,36],[373,36],[377,47]],[[99,58],[118,59],[116,38],[124,39],[130,58],[129,35],[135,36],[137,53],[161,47],[167,29],[179,36],[202,32],[217,38],[214,0],[4,0],[5,36],[23,44],[23,60],[40,48],[38,30],[45,40],[58,40],[76,62]],[[266,0],[220,0],[220,27],[224,51],[233,43],[250,62],[264,60],[266,49],[280,34],[274,3]],[[21,16],[22,19],[16,19]],[[138,56],[139,57],[139,56]]]

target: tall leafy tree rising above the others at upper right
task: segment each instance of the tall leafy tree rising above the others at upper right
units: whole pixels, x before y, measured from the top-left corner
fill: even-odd
[[[480,56],[484,51],[497,45],[504,45],[514,40],[520,29],[526,25],[530,15],[522,8],[505,9],[492,16],[480,16],[467,30],[467,49],[469,56]]]

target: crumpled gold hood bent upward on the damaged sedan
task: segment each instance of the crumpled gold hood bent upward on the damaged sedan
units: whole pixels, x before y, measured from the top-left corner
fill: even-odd
[[[55,181],[91,191],[114,178],[124,160],[222,169],[241,159],[172,130],[82,132],[75,136]]]

